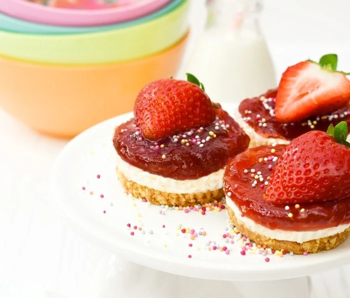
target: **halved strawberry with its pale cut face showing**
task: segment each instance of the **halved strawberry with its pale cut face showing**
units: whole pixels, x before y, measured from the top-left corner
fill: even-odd
[[[345,105],[350,98],[350,81],[345,73],[335,70],[336,62],[336,55],[328,54],[319,63],[308,60],[288,67],[278,86],[276,120],[300,121]]]

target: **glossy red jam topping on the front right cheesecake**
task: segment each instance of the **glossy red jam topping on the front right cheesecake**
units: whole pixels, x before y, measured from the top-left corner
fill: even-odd
[[[350,197],[299,204],[271,204],[263,198],[272,168],[284,148],[285,145],[258,146],[229,160],[224,191],[241,214],[269,229],[290,231],[318,230],[350,223]]]

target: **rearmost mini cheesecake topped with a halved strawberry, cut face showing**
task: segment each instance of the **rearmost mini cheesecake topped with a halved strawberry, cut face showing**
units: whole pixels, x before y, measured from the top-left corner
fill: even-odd
[[[278,89],[240,103],[234,118],[249,135],[250,147],[287,144],[307,131],[350,123],[350,81],[335,70],[336,59],[328,54],[319,63],[308,60],[290,66]]]

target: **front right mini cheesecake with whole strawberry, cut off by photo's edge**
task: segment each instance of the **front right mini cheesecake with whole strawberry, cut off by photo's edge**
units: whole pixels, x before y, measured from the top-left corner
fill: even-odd
[[[336,247],[350,234],[346,122],[288,145],[261,145],[225,169],[227,212],[250,240],[296,254]]]

